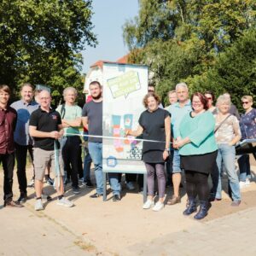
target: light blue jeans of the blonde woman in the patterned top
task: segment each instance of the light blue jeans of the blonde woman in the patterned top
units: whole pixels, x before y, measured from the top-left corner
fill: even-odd
[[[221,199],[221,166],[222,161],[229,177],[231,196],[233,201],[241,200],[239,180],[235,170],[236,150],[234,146],[229,144],[218,144],[217,166],[218,170],[212,173],[213,191],[216,190],[215,198]]]

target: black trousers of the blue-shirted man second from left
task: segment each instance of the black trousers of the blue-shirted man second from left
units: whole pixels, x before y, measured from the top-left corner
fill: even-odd
[[[27,151],[33,162],[32,145],[20,145],[15,143],[15,157],[17,160],[17,177],[19,182],[20,195],[26,195],[26,154]]]

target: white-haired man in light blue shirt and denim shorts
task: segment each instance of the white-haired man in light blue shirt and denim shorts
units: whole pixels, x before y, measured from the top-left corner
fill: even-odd
[[[178,137],[179,125],[184,115],[189,113],[191,102],[189,100],[189,90],[185,83],[176,84],[177,102],[167,107],[166,110],[171,113],[172,137],[174,140]],[[181,168],[180,156],[178,150],[174,148],[173,161],[172,161],[172,183],[173,183],[173,196],[167,202],[168,205],[174,205],[181,202],[179,195],[179,186],[181,183]]]

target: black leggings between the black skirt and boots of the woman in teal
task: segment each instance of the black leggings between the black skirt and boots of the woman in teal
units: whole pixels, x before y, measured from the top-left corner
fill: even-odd
[[[185,170],[186,192],[189,198],[195,199],[198,195],[200,201],[208,201],[210,192],[208,176],[208,173]]]

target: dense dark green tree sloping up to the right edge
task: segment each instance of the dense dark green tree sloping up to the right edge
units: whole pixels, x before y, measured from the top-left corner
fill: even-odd
[[[236,43],[218,55],[215,65],[201,76],[187,79],[192,90],[212,90],[216,95],[230,92],[241,108],[241,96],[256,94],[256,29],[252,28]]]

